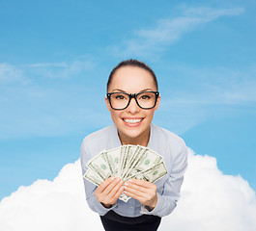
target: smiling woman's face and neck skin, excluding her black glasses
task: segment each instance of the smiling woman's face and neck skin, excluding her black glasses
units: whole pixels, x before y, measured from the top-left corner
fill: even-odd
[[[146,90],[156,91],[156,84],[149,71],[137,66],[123,66],[117,69],[108,88],[108,92],[138,93]],[[150,124],[159,101],[160,97],[157,98],[155,108],[145,110],[141,109],[132,98],[128,108],[119,111],[112,109],[108,99],[105,99],[123,144],[127,144],[124,143],[126,141],[147,142],[149,140]]]

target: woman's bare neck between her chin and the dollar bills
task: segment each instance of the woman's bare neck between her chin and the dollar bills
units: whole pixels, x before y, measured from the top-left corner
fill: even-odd
[[[143,134],[139,137],[130,138],[118,132],[119,139],[122,145],[132,144],[132,145],[141,145],[141,146],[148,146],[150,141],[150,128],[147,129]]]

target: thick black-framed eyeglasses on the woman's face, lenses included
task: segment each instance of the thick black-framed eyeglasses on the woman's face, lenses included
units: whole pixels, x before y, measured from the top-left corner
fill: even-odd
[[[153,109],[159,96],[158,91],[142,91],[139,93],[110,92],[106,94],[109,104],[114,110],[128,108],[131,98],[134,98],[137,105],[142,109]]]

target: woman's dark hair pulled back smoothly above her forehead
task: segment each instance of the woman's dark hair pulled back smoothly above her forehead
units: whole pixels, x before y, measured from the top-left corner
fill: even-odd
[[[108,77],[108,80],[107,80],[107,84],[106,84],[106,90],[108,90],[109,88],[109,85],[111,84],[111,81],[113,79],[113,76],[116,72],[117,69],[123,67],[123,66],[137,66],[137,67],[141,67],[147,71],[149,71],[153,77],[153,80],[156,84],[156,90],[158,90],[158,84],[157,84],[157,80],[156,80],[156,74],[155,72],[153,71],[153,69],[148,65],[148,64],[145,64],[141,61],[138,61],[138,60],[133,60],[133,59],[129,59],[129,60],[125,60],[125,61],[122,61],[121,63],[117,64],[113,69],[112,71],[110,72],[109,74],[109,77]]]

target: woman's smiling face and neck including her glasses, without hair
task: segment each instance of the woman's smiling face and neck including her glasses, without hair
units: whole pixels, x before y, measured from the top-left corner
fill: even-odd
[[[112,120],[118,128],[118,134],[122,144],[140,144],[147,146],[150,137],[150,124],[160,102],[160,97],[156,96],[158,95],[156,90],[156,82],[152,74],[142,67],[129,64],[115,71],[111,84],[108,86],[108,92],[111,92],[108,93],[108,95],[110,94],[112,97],[107,97],[105,101]],[[119,99],[114,98],[114,100],[113,95],[115,97],[115,95],[120,92],[123,92],[123,95],[125,95],[125,93],[133,94],[135,100],[130,100],[130,94],[129,99],[128,96],[126,97],[128,100],[122,99],[122,101],[127,101],[127,103],[123,105],[124,109],[116,110],[113,109],[113,105],[121,106],[121,103],[116,102],[121,101],[120,97],[122,97],[122,95],[119,94]],[[142,99],[150,96],[151,99]],[[149,108],[141,109],[142,105],[138,102],[142,101],[142,105],[148,106]],[[150,101],[151,105],[149,105],[150,102],[145,101]]]

